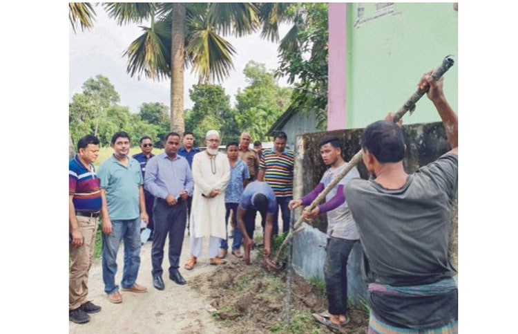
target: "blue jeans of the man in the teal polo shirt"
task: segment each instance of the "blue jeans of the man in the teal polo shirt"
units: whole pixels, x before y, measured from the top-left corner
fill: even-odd
[[[124,239],[124,270],[122,288],[131,288],[140,267],[140,218],[127,221],[111,221],[112,232],[102,234],[102,280],[104,292],[110,295],[119,290],[115,284],[117,273],[117,252],[120,241]]]

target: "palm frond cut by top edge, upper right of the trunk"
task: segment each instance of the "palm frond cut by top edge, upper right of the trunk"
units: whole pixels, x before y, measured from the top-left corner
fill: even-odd
[[[260,24],[258,9],[253,3],[210,3],[207,19],[222,35],[236,37],[253,33]]]

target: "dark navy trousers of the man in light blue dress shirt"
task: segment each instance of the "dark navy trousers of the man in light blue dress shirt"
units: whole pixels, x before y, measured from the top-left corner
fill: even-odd
[[[180,266],[180,254],[184,242],[187,203],[178,200],[176,205],[170,206],[162,198],[155,198],[153,214],[155,228],[153,246],[151,247],[151,275],[162,275],[162,260],[164,259],[164,245],[169,233],[169,273]]]

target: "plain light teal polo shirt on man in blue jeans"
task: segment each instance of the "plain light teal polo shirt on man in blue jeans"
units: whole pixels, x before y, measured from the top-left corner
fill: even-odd
[[[101,188],[106,189],[108,216],[113,221],[135,219],[140,215],[139,186],[144,183],[140,163],[128,156],[128,166],[111,156],[99,169]]]

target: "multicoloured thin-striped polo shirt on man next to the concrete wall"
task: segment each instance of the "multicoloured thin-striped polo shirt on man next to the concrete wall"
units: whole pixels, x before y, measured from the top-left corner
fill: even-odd
[[[263,152],[259,169],[265,171],[265,181],[274,189],[277,197],[292,196],[294,152],[286,150],[282,154],[273,149]]]

